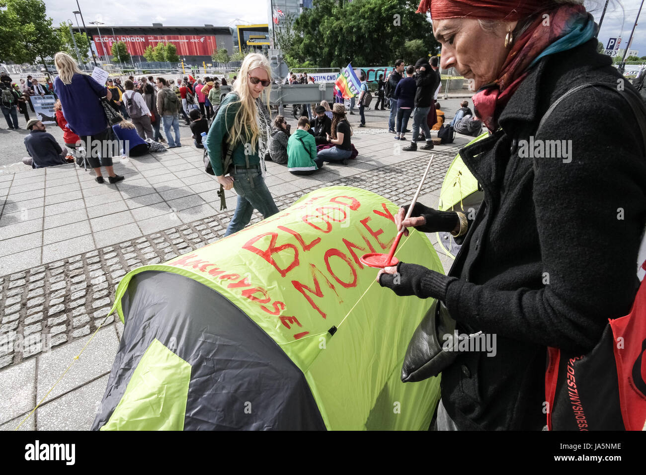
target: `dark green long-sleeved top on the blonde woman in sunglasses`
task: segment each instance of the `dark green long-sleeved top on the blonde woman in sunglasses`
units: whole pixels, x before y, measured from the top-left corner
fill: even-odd
[[[211,129],[209,129],[209,134],[206,138],[206,147],[209,151],[209,159],[211,160],[211,166],[213,167],[213,172],[216,176],[224,174],[222,163],[224,162],[225,157],[222,155],[222,142],[227,142],[229,130],[233,127],[233,120],[238,109],[240,109],[240,100],[238,96],[233,92],[227,94],[222,101],[222,105],[220,105],[218,115],[215,116],[215,121],[213,125],[211,125]],[[247,134],[244,135],[246,136]],[[247,140],[245,140],[244,137],[241,137],[238,139],[238,142],[235,143],[233,153],[231,154],[233,163],[245,166],[247,164],[246,158],[249,158],[249,165],[260,164],[257,144],[256,151],[245,158],[245,143],[247,143]],[[250,148],[251,147],[247,147],[247,149]]]

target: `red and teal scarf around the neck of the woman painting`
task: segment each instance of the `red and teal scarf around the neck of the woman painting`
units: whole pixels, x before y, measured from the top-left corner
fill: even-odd
[[[539,59],[582,45],[597,32],[592,15],[581,5],[563,5],[539,14],[527,30],[514,41],[503,69],[494,82],[481,87],[473,96],[475,114],[494,132],[505,105]]]

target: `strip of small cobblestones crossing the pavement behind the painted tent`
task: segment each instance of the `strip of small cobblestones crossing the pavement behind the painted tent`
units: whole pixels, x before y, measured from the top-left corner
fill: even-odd
[[[422,195],[441,187],[456,150],[454,147],[436,154]],[[285,209],[305,193],[330,185],[367,189],[405,204],[417,189],[427,158],[424,154],[278,196],[276,205]],[[166,262],[218,240],[232,215],[233,209],[222,211],[190,224],[0,277],[0,368],[94,332],[112,306],[117,284],[130,269]],[[252,222],[261,218],[256,212]],[[106,323],[113,321],[111,315]]]

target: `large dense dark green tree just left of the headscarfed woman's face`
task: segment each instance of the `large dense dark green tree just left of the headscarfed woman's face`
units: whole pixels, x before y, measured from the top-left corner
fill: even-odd
[[[284,54],[319,67],[392,64],[406,41],[420,39],[426,54],[439,50],[417,0],[317,0],[294,22],[298,38]],[[358,47],[360,45],[360,47]]]

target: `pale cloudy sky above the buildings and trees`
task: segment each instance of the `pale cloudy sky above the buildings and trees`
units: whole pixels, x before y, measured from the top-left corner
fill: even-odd
[[[601,17],[604,0],[586,1],[597,23]],[[622,36],[628,41],[641,0],[610,0],[599,40],[606,45],[609,37]],[[268,23],[267,0],[79,0],[85,23],[99,20],[106,25],[146,26],[163,23],[164,26],[215,26],[234,25],[234,19],[251,23]],[[68,19],[74,21],[75,0],[45,0],[48,16],[54,23]],[[646,12],[642,12],[631,49],[646,56]]]

